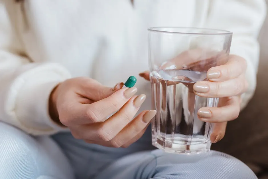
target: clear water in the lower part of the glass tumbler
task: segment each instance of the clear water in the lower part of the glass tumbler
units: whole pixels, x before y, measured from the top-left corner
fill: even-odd
[[[152,104],[157,115],[152,120],[152,143],[171,153],[200,153],[210,150],[212,124],[202,122],[197,111],[216,106],[218,98],[194,94],[193,86],[206,80],[206,72],[158,70],[150,73]]]

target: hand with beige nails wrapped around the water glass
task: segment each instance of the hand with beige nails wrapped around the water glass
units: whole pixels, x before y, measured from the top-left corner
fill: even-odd
[[[238,117],[240,112],[240,95],[247,90],[245,79],[246,61],[237,55],[229,55],[226,64],[212,67],[207,72],[208,81],[194,84],[194,93],[208,98],[220,98],[218,107],[202,107],[198,117],[204,122],[213,122],[214,130],[210,136],[213,143],[224,137],[228,121]],[[149,72],[140,73],[149,80]]]

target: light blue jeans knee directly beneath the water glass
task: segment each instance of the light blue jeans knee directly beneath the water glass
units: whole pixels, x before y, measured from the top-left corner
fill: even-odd
[[[155,155],[155,173],[152,178],[230,178],[257,179],[253,171],[240,160],[211,151],[207,156],[195,160],[192,156],[166,154],[160,151]]]

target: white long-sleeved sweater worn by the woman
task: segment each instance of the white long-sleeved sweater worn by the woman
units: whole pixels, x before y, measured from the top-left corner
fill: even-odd
[[[0,0],[0,120],[34,134],[64,130],[48,115],[53,87],[87,76],[114,86],[147,70],[147,28],[184,26],[234,32],[231,53],[247,60],[256,86],[264,0]],[[150,96],[138,78],[139,93]],[[150,99],[142,109],[150,108]]]

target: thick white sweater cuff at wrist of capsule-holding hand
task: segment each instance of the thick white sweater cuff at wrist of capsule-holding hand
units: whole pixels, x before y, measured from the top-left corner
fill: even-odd
[[[27,71],[13,83],[14,113],[20,128],[33,135],[50,135],[68,131],[54,122],[49,115],[49,97],[60,82],[70,74],[58,65],[46,65]],[[13,95],[14,96],[14,95]]]

